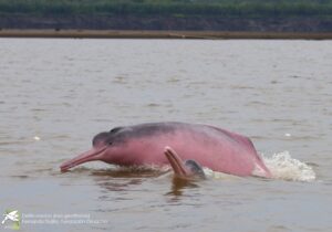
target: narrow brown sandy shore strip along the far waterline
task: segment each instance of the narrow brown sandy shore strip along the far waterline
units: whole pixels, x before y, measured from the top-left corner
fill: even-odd
[[[0,38],[331,40],[332,32],[294,33],[294,32],[142,31],[142,30],[0,30]]]

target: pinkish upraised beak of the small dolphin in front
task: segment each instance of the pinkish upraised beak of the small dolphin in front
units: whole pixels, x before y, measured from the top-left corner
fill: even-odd
[[[175,150],[173,150],[170,147],[165,147],[164,154],[177,177],[186,178],[190,176],[189,171],[184,165],[184,161],[179,158]]]

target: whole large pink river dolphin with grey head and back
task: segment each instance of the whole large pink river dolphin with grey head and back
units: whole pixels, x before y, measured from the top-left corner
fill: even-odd
[[[120,166],[163,167],[170,164],[181,173],[180,167],[173,166],[175,154],[180,161],[194,160],[214,171],[240,177],[271,177],[249,138],[210,125],[166,122],[115,127],[97,134],[92,145],[90,150],[62,164],[61,171],[101,160]]]

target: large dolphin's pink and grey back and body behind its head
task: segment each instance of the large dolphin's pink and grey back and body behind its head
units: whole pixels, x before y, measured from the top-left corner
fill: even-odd
[[[194,159],[215,171],[250,176],[256,166],[267,170],[248,137],[215,126],[148,123],[116,127],[111,135],[114,143],[127,144],[126,156],[133,155],[138,165],[168,164],[163,151],[170,146],[184,160]]]

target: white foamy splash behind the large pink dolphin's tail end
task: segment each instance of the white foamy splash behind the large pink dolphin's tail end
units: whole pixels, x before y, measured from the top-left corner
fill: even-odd
[[[262,158],[274,179],[292,181],[313,181],[315,179],[312,167],[292,158],[287,150],[274,154],[272,157],[262,155]]]

